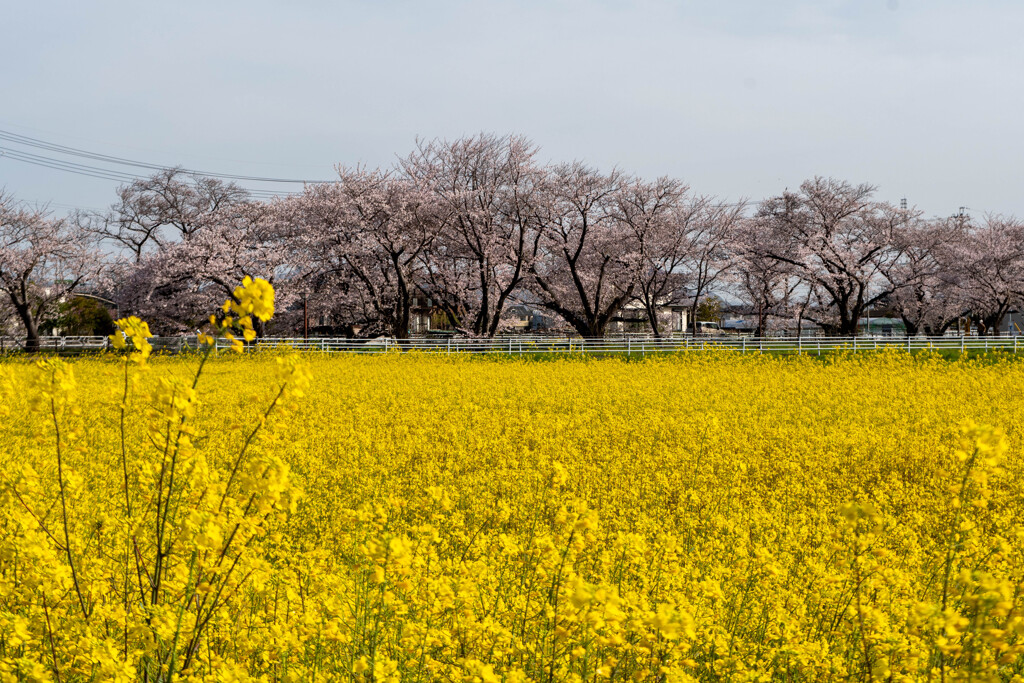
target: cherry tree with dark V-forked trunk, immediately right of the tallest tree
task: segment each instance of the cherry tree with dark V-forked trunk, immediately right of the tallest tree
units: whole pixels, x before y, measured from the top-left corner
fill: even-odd
[[[601,337],[636,288],[639,245],[621,219],[628,179],[582,163],[549,169],[535,211],[534,301],[585,337]]]

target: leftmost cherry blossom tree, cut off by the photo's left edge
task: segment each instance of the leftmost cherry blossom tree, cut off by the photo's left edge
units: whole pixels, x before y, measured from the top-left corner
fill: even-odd
[[[0,194],[0,292],[26,334],[25,349],[39,350],[40,319],[102,269],[90,236]]]

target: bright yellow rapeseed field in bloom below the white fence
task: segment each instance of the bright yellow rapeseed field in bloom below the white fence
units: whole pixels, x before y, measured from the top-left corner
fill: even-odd
[[[1024,676],[1012,359],[122,329],[125,359],[0,364],[2,681]]]

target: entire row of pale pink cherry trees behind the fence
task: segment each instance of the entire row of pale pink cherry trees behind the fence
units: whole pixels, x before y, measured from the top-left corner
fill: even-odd
[[[745,302],[759,333],[787,318],[854,334],[879,303],[911,334],[963,316],[994,332],[1024,302],[1021,222],[926,219],[876,201],[870,185],[814,178],[726,204],[673,178],[542,164],[524,138],[487,134],[338,172],[259,202],[168,171],[121,187],[106,212],[66,219],[3,198],[0,288],[30,338],[83,284],[163,332],[190,330],[247,274],[274,283],[291,311],[283,331],[305,307],[399,338],[426,298],[477,336],[500,332],[516,304],[600,336],[624,309],[663,334],[663,311],[686,306],[694,319],[711,294]]]

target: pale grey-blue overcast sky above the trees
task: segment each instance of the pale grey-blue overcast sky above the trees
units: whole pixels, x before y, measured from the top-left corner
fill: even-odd
[[[2,19],[0,129],[91,152],[321,179],[417,136],[515,132],[728,200],[831,175],[929,215],[1024,216],[1020,0],[40,0]],[[0,157],[0,186],[58,211],[116,184]]]

